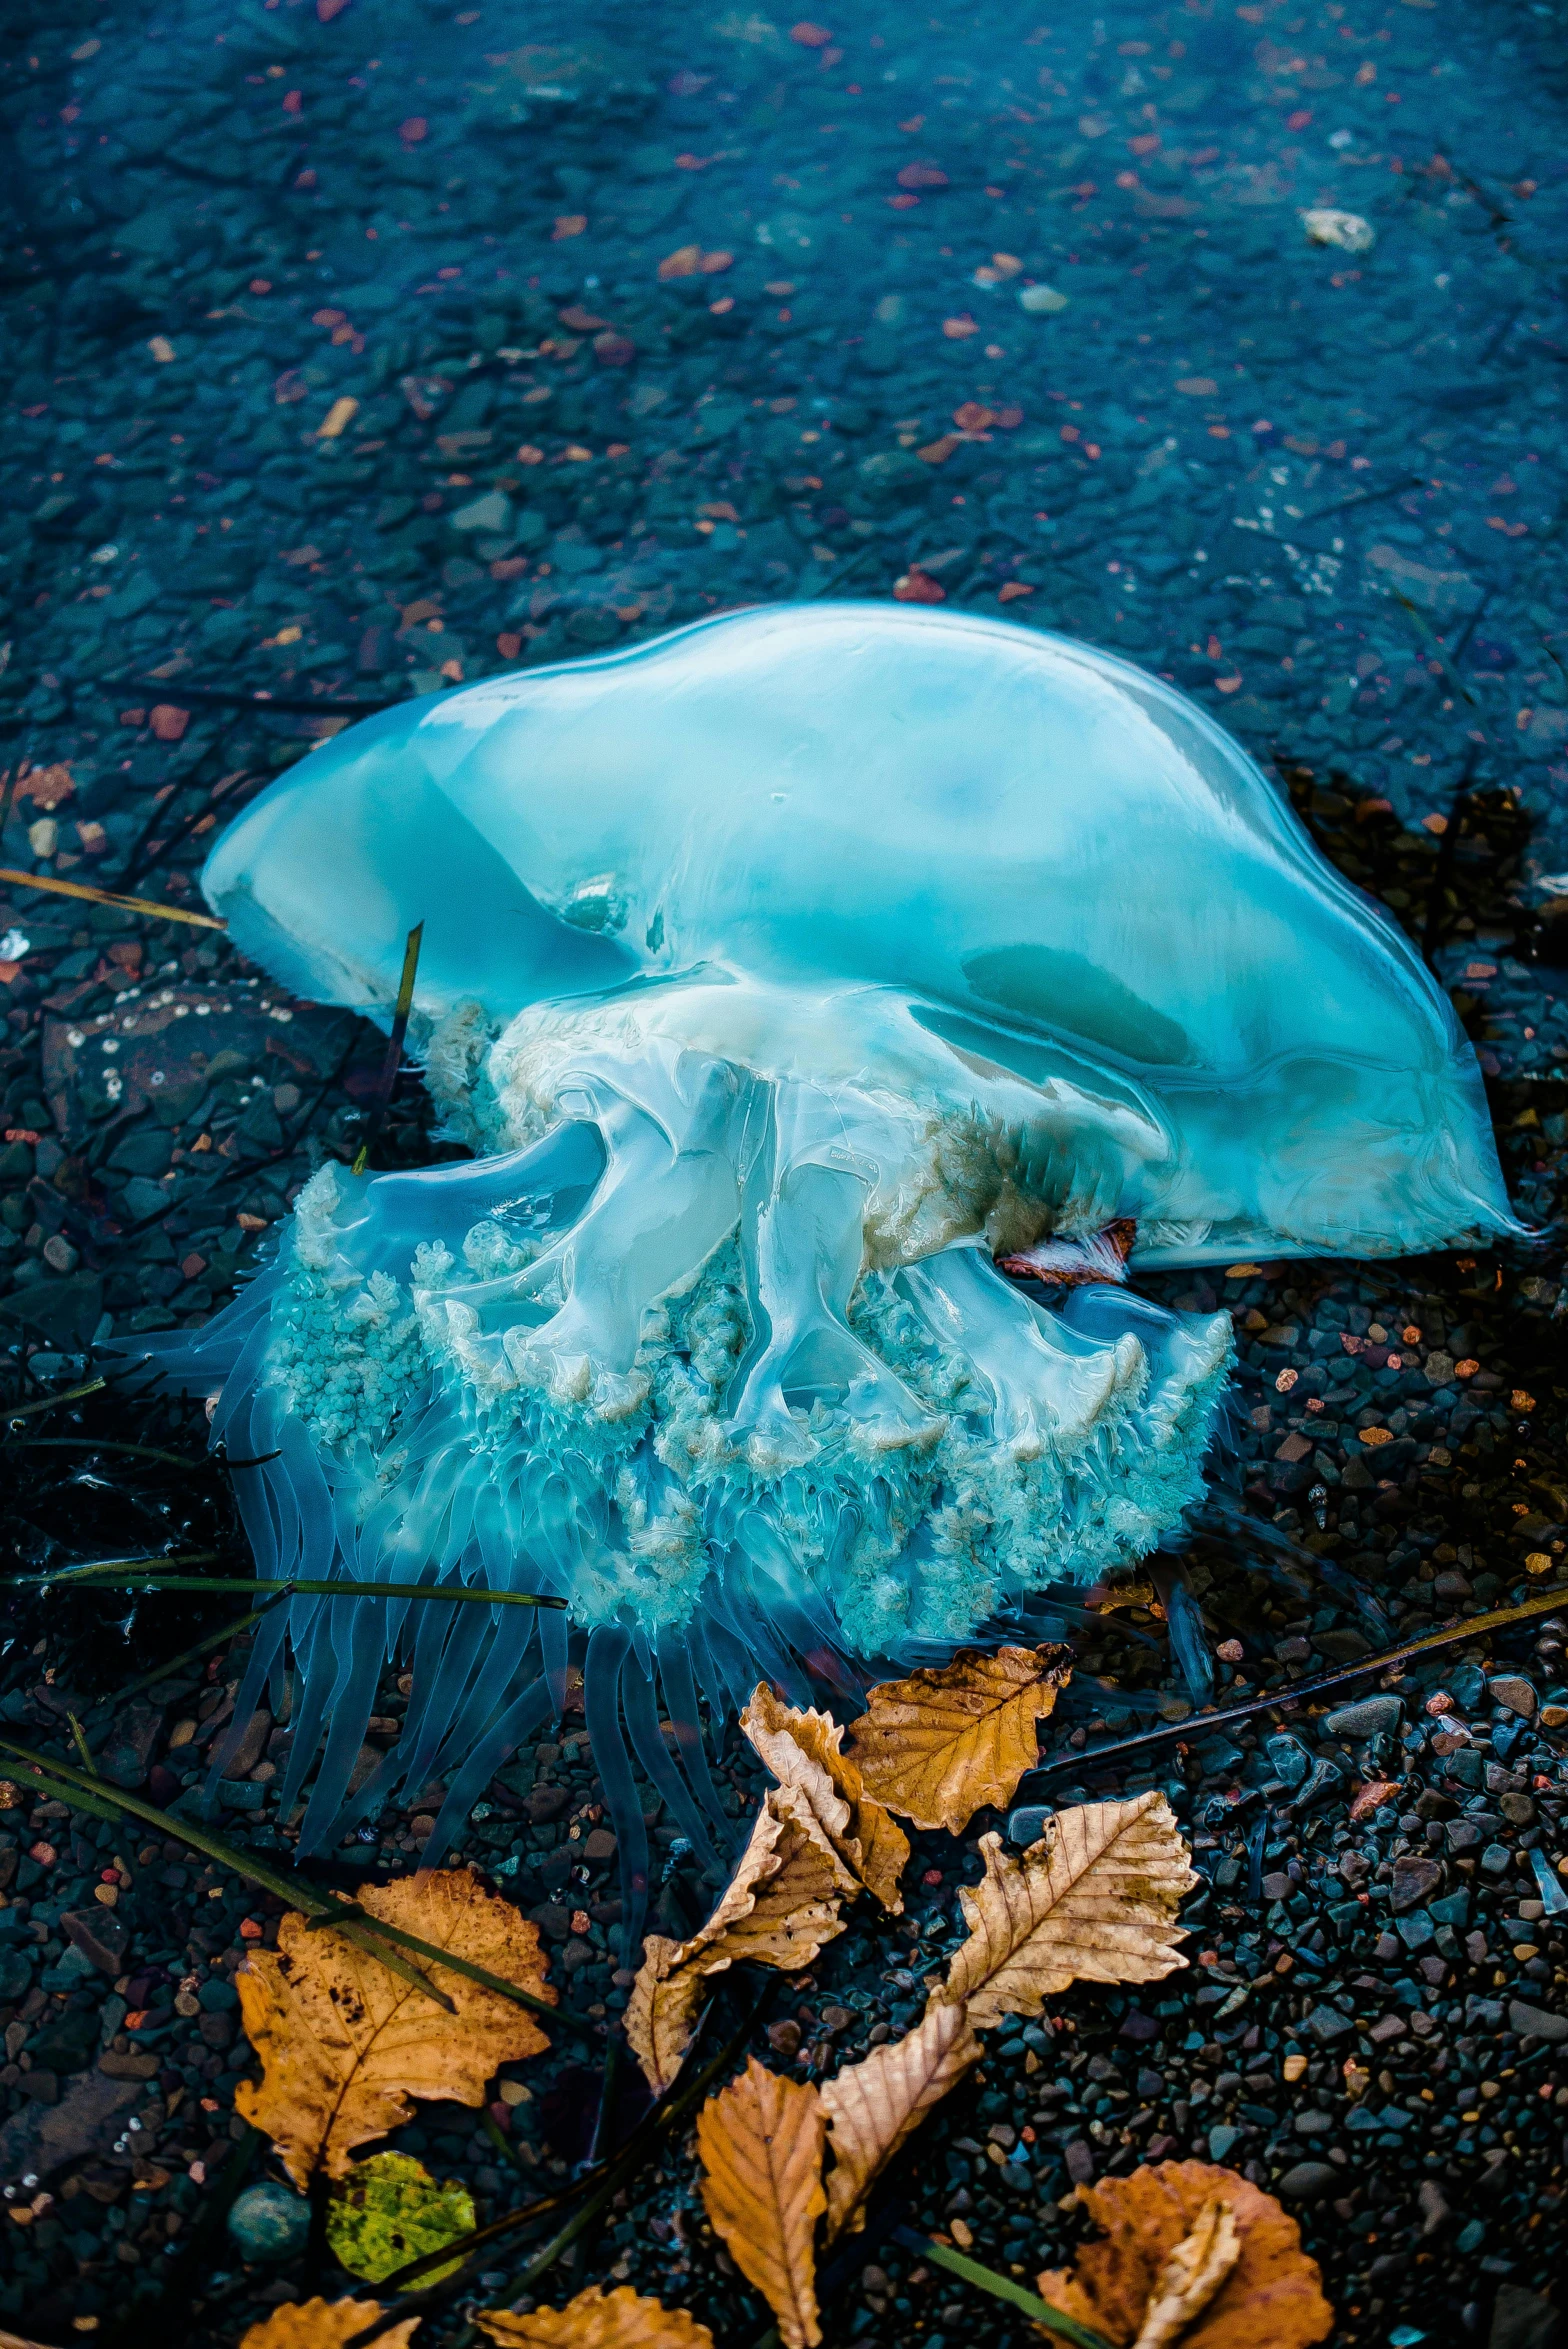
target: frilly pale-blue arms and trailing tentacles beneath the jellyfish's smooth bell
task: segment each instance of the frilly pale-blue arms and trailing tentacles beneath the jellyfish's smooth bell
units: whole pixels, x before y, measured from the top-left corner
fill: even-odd
[[[1084,1271],[1120,1261],[1094,1243],[1169,1139],[1115,1097],[986,1071],[887,991],[730,977],[533,1008],[488,1045],[474,1022],[460,1008],[455,1043],[432,1036],[427,1073],[462,1069],[444,1106],[486,1156],[324,1167],[286,1250],[164,1344],[162,1372],[216,1395],[214,1442],[261,1461],[237,1485],[265,1576],[455,1579],[570,1609],[570,1630],[408,1600],[268,1616],[237,1717],[289,1635],[284,1811],[319,1752],[300,1846],[455,1771],[439,1851],[559,1710],[587,1635],[636,1879],[617,1719],[716,1856],[697,1691],[730,1710],[758,1672],[803,1701],[812,1680],[859,1687],[1143,1555],[1199,1492],[1230,1322],[1108,1280],[1047,1308],[1007,1280],[993,1252],[1042,1236]],[[404,1734],[361,1776],[404,1640]]]

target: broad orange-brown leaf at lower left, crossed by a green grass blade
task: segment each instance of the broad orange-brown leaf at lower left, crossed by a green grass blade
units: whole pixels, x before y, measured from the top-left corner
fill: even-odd
[[[472,1867],[371,1884],[359,1905],[554,2001],[538,1926],[486,1893]],[[502,2062],[549,2046],[533,2015],[498,1992],[427,1959],[418,1971],[453,2013],[345,1933],[307,1931],[289,1914],[277,1952],[251,1950],[235,1976],[239,2020],[263,2067],[261,2084],[239,2084],[235,2109],[272,2138],[298,2187],[315,2168],[345,2178],[352,2149],[406,2121],[411,2098],[481,2105]]]

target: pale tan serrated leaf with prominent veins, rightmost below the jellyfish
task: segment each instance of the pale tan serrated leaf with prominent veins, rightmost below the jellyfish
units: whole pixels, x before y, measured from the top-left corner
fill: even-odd
[[[1185,1957],[1176,1905],[1197,1884],[1164,1795],[1059,1811],[1021,1860],[981,1835],[984,1879],[962,1886],[969,1938],[941,1999],[962,1999],[976,2032],[1038,2015],[1068,1983],[1157,1983]]]

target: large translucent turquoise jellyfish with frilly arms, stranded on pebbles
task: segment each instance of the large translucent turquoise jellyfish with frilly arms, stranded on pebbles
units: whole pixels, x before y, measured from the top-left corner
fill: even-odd
[[[716,1865],[702,1703],[852,1698],[1181,1525],[1230,1320],[1129,1276],[1519,1229],[1408,940],[1202,709],[1038,630],[756,608],[387,709],[204,890],[383,1024],[423,921],[469,1156],[322,1165],[237,1301],[136,1351],[258,1461],[265,1579],[566,1602],[293,1595],[235,1736],[289,1647],[300,1846],[441,1778],[441,1851],[580,1668],[627,1947],[631,1757]]]

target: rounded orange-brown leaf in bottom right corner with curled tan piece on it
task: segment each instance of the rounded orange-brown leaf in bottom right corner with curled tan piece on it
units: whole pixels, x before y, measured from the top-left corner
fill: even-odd
[[[1272,2194],[1211,2161],[1162,2161],[1129,2178],[1080,2187],[1106,2241],[1084,2243],[1073,2267],[1047,2269],[1038,2290],[1049,2307],[1103,2333],[1113,2349],[1310,2349],[1333,2330],[1317,2262],[1300,2248],[1300,2229]],[[1237,2257],[1216,2276],[1204,2300],[1197,2279],[1223,2260],[1218,2203],[1235,2227]],[[1181,2274],[1192,2300],[1181,2328],[1148,2330],[1160,2307],[1176,2304]]]

